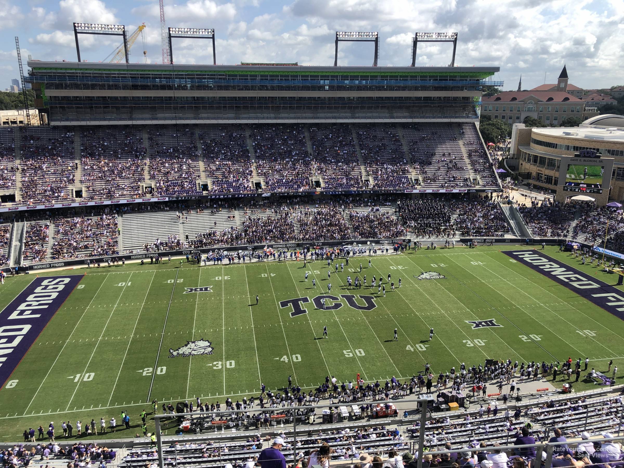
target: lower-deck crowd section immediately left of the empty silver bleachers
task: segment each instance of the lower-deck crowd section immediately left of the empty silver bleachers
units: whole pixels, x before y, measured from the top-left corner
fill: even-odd
[[[52,259],[119,255],[117,215],[54,220]]]

